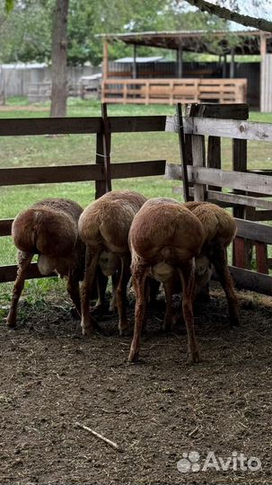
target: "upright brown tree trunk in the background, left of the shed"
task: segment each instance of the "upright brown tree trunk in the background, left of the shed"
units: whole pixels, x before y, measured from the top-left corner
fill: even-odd
[[[52,93],[50,117],[66,116],[67,15],[69,0],[56,0],[52,32]]]

